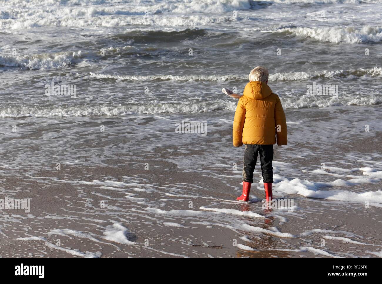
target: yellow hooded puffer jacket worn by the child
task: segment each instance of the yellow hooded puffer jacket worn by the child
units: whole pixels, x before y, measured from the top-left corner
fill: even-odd
[[[277,131],[276,131],[277,130]],[[280,99],[260,81],[249,82],[233,120],[233,146],[286,145],[286,119]]]

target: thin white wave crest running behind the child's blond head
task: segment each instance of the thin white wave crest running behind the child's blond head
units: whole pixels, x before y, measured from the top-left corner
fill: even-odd
[[[283,72],[269,75],[269,81],[298,81],[298,80],[312,80],[324,78],[348,78],[354,79],[356,77],[369,76],[379,77],[382,75],[381,67],[373,67],[368,69],[350,69],[350,70],[337,70],[337,71],[315,71],[315,72]],[[174,80],[174,81],[217,81],[226,82],[246,81],[247,75],[112,75],[112,74],[96,74],[90,73],[91,77],[100,79],[112,79],[117,81],[154,81],[154,80]]]

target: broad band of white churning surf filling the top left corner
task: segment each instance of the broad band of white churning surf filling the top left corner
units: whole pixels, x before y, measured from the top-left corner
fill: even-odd
[[[199,26],[231,21],[222,13],[249,10],[257,5],[248,0],[193,0],[180,2],[119,1],[0,1],[0,29],[36,27],[117,27],[129,25]],[[86,4],[87,3],[87,4]],[[40,7],[44,9],[40,9]],[[206,13],[203,15],[203,13]],[[212,16],[215,15],[215,16]]]

